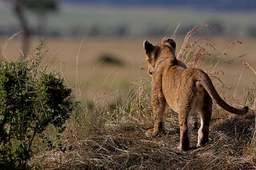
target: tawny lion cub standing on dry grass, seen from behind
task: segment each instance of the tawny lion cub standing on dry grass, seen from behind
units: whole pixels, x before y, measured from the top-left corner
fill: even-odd
[[[248,107],[233,108],[225,103],[215,90],[208,75],[201,69],[186,68],[175,56],[176,43],[171,38],[159,45],[144,41],[148,72],[151,74],[151,106],[154,113],[154,128],[146,131],[146,136],[156,136],[164,132],[164,110],[166,103],[178,113],[180,126],[179,149],[188,150],[191,137],[191,115],[199,113],[201,127],[198,130],[200,147],[208,142],[212,98],[230,113],[242,115]]]

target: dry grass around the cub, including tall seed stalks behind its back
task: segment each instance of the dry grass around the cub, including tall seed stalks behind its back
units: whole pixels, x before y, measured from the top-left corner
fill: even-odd
[[[225,58],[228,50],[218,50],[213,40],[193,39],[192,35],[197,29],[188,32],[178,57],[189,67],[203,67],[215,84],[220,84],[222,81],[219,77],[222,73],[219,65],[230,61]],[[78,55],[73,58],[73,63],[76,63],[73,67],[76,70],[73,81],[74,88],[77,88],[77,98],[81,102],[73,117],[66,123],[67,129],[62,136],[67,151],[63,153],[41,147],[41,142],[36,141],[38,147],[29,162],[34,169],[256,169],[256,128],[253,111],[238,117],[215,106],[208,145],[196,148],[197,132],[193,131],[191,150],[181,152],[176,149],[179,140],[178,115],[170,108],[165,114],[166,135],[145,137],[144,130],[150,128],[153,121],[150,82],[144,78],[134,81],[123,96],[118,92],[112,93],[114,102],[105,100],[104,95],[95,97],[94,101],[81,95],[82,84],[78,86],[78,59],[84,54],[80,53],[82,42],[77,47],[79,52],[74,54]],[[142,48],[142,45],[139,47]],[[144,60],[142,56],[138,57]],[[136,67],[141,64],[142,62],[139,62]],[[250,72],[254,71],[249,64],[245,66]],[[81,65],[79,69],[83,70]],[[66,79],[71,77],[64,75]],[[236,78],[238,79],[238,76]],[[79,80],[84,79],[79,77]],[[72,81],[67,82],[71,84]],[[252,80],[247,82],[251,83]],[[251,86],[245,93],[244,101],[250,108],[255,108],[255,89],[255,86]],[[98,98],[104,98],[103,106],[97,104]],[[230,101],[232,105],[242,106],[239,101]]]

